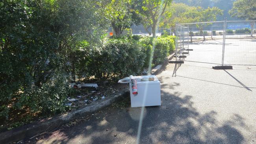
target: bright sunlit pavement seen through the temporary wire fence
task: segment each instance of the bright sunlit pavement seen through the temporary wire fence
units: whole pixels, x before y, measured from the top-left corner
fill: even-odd
[[[193,42],[186,60],[221,64],[222,43],[222,39]],[[224,64],[256,65],[256,39],[226,39],[225,43]]]

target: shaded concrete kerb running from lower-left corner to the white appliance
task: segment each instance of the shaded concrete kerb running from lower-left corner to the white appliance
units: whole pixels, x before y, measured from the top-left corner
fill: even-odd
[[[25,126],[18,127],[16,129],[0,133],[0,144],[16,142],[24,138],[33,137],[38,133],[43,133],[47,130],[54,129],[67,122],[94,113],[105,107],[108,107],[114,102],[121,101],[128,94],[129,90],[126,89],[121,92],[115,93],[104,100],[99,100],[98,102],[90,103],[89,105],[87,105],[86,107],[82,107],[81,109],[67,112],[64,114],[59,114],[57,116],[41,120],[40,122],[34,122],[32,124],[28,124]]]

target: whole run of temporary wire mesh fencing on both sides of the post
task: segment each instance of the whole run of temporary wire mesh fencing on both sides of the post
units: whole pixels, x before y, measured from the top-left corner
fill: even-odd
[[[256,65],[255,25],[255,21],[245,20],[176,24],[176,51],[193,49],[184,61]],[[189,42],[185,47],[184,41]]]

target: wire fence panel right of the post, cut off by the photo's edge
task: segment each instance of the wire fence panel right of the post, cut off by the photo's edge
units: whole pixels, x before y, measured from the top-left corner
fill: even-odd
[[[256,65],[254,21],[227,21],[224,65]]]

